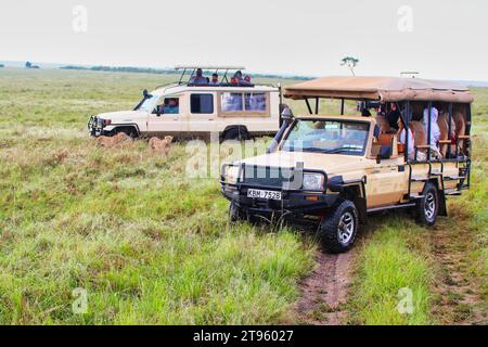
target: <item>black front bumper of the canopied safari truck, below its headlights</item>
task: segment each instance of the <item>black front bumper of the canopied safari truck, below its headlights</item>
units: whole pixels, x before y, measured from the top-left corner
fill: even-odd
[[[247,197],[249,189],[265,188],[221,182],[221,192],[226,198],[236,206],[255,214],[320,215],[328,208],[333,207],[338,198],[338,194],[275,190],[281,192],[282,200],[272,201]],[[269,189],[266,188],[266,190]]]

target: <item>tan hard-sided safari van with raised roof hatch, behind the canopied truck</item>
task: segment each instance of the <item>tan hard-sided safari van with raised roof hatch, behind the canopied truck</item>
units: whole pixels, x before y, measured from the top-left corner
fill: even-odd
[[[242,76],[243,67],[177,66],[177,82],[149,93],[132,111],[104,113],[90,117],[91,136],[125,132],[132,138],[172,136],[247,140],[253,136],[274,136],[280,128],[280,88],[254,85]],[[205,76],[207,74],[207,76]],[[217,74],[217,81],[210,80]]]

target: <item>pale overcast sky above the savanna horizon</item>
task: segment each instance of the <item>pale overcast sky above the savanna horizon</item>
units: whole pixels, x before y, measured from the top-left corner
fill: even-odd
[[[487,35],[487,0],[0,2],[0,60],[14,61],[324,76],[354,55],[358,75],[488,80]]]

